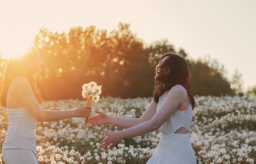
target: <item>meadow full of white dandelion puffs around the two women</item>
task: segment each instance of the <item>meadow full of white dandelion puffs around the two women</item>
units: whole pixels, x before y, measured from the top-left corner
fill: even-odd
[[[104,97],[93,109],[117,117],[139,117],[152,98]],[[247,96],[195,96],[191,143],[198,164],[256,163],[256,98]],[[62,110],[85,105],[81,100],[46,101],[43,109]],[[92,112],[92,116],[95,112]],[[121,140],[114,147],[100,147],[104,133],[120,130],[112,125],[87,126],[84,118],[37,124],[39,164],[145,164],[155,152],[161,133]],[[0,148],[8,127],[6,109],[0,108]],[[0,150],[0,163],[2,153]]]

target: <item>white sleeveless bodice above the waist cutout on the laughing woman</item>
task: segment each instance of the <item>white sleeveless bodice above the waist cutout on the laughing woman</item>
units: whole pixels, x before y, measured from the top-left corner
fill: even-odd
[[[166,92],[159,97],[157,103],[157,111],[164,103],[166,98]],[[178,109],[164,122],[164,124],[159,128],[163,134],[172,134],[175,133],[180,127],[186,128],[190,131],[191,122],[192,122],[192,105],[189,103],[189,107],[186,111],[180,111]]]

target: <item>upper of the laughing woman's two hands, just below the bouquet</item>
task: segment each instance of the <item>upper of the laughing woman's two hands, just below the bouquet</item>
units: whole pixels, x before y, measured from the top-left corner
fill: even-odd
[[[88,118],[88,122],[91,123],[91,125],[108,124],[109,116],[107,114],[105,114],[104,112],[99,112],[97,110],[95,110],[95,113],[97,113],[98,115]]]

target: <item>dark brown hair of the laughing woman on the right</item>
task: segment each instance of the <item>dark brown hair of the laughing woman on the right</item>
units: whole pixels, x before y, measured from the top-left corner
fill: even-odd
[[[170,70],[169,74],[163,75],[160,79],[155,79],[155,88],[153,91],[153,100],[158,103],[159,97],[166,92],[167,90],[170,90],[174,85],[180,84],[188,93],[190,103],[192,104],[192,107],[195,107],[195,99],[193,98],[193,95],[190,91],[190,78],[191,73],[189,69],[189,65],[186,62],[186,59],[181,57],[180,55],[177,55],[175,53],[166,53],[162,56],[160,60],[162,60],[164,57],[168,56],[169,58],[164,61],[163,67],[167,67]],[[163,82],[165,86],[163,85]]]

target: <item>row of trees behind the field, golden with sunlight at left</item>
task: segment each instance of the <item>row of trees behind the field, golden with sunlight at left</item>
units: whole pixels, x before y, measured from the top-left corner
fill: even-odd
[[[198,96],[237,94],[238,88],[224,74],[224,67],[209,58],[189,58],[183,49],[175,50],[168,40],[146,45],[119,23],[110,32],[95,26],[70,28],[68,33],[40,28],[34,39],[43,59],[42,72],[36,74],[45,100],[81,99],[82,85],[95,81],[102,85],[101,96],[135,98],[152,96],[155,66],[166,52],[184,57],[191,69],[191,91]],[[0,72],[6,59],[0,59]]]

